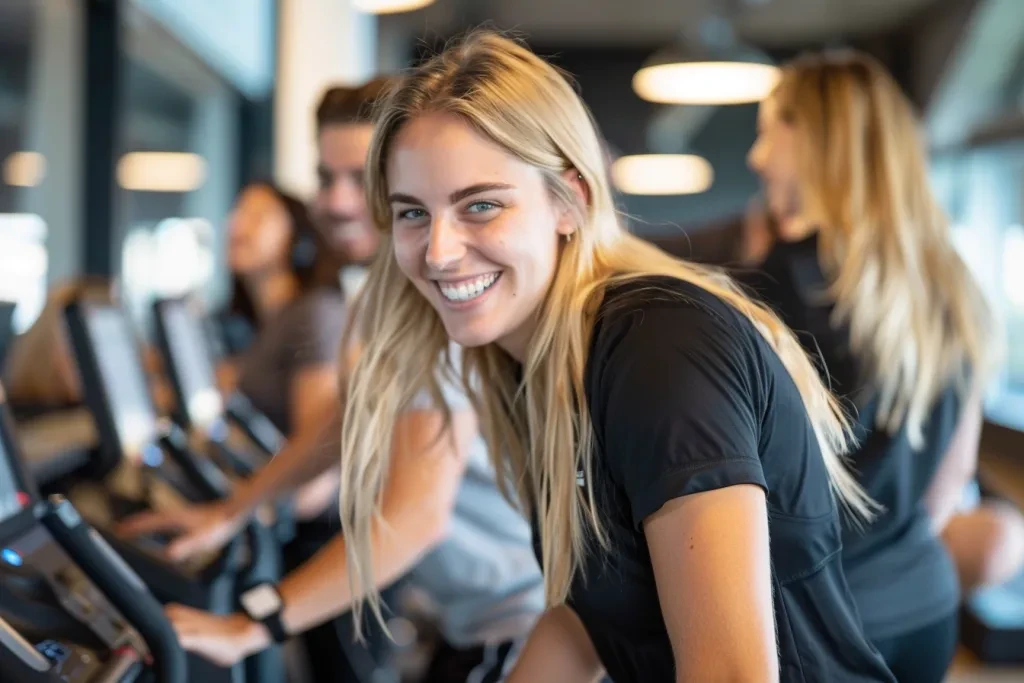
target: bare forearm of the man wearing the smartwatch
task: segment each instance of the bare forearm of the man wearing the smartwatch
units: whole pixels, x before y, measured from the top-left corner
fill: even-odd
[[[441,538],[440,512],[404,509],[376,525],[373,540],[373,577],[378,590],[409,571]],[[281,583],[283,620],[289,633],[302,633],[334,618],[351,605],[345,539],[338,535],[305,564]]]

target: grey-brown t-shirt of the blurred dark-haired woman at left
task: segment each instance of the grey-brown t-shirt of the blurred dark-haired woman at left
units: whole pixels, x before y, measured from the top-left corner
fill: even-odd
[[[239,390],[286,436],[292,379],[310,366],[337,362],[344,327],[341,292],[316,289],[279,311],[242,356]]]

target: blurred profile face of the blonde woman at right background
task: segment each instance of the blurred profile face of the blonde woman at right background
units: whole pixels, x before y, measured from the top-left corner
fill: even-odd
[[[780,225],[784,225],[797,215],[800,207],[796,131],[779,117],[774,97],[761,102],[758,137],[746,161],[761,176],[768,210]]]

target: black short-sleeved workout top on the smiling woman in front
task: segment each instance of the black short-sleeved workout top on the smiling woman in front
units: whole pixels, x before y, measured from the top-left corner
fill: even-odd
[[[767,342],[731,306],[672,279],[620,286],[601,312],[585,380],[597,452],[583,485],[611,550],[587,558],[569,604],[609,677],[675,680],[644,519],[678,497],[754,484],[767,495],[781,680],[892,681],[843,575],[814,432]]]

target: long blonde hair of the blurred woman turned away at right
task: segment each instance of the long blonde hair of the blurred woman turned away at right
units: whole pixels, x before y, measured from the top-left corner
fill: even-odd
[[[950,381],[986,381],[998,335],[932,194],[912,108],[882,65],[845,50],[786,65],[771,97],[797,132],[802,218],[819,228],[834,324],[879,389],[880,427],[905,424],[920,447]]]

